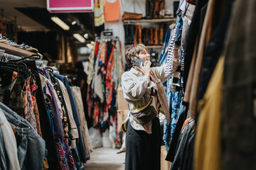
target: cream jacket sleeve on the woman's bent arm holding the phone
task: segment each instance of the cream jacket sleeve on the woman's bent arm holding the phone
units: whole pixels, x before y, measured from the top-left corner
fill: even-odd
[[[138,101],[145,94],[149,83],[149,77],[143,76],[142,79],[136,81],[132,79],[127,72],[124,72],[124,74],[122,74],[124,98],[130,101]]]

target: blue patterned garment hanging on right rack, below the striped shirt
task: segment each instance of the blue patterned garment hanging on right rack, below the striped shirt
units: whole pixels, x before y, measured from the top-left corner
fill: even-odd
[[[182,98],[183,96],[180,91],[171,94],[171,139],[176,128],[178,117],[181,115]]]

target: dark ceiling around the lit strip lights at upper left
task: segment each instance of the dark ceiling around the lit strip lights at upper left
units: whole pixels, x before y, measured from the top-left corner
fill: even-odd
[[[94,39],[93,13],[50,13],[46,9],[46,0],[0,0],[4,16],[17,22],[18,30],[48,31],[55,30],[67,35],[75,41],[73,33],[84,35],[88,33],[88,42]],[[70,26],[70,30],[63,30],[50,20],[51,16],[58,16]],[[76,21],[73,26],[71,23]],[[78,41],[76,41],[78,42]]]

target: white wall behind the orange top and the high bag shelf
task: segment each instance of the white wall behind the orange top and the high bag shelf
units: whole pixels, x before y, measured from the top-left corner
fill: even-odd
[[[102,0],[105,3],[105,0]],[[116,0],[108,0],[110,2],[116,1]],[[119,0],[120,6],[121,6],[121,16],[119,21],[117,22],[107,22],[105,23],[105,29],[113,29],[114,36],[119,36],[119,40],[122,42],[122,57],[124,60],[124,26],[122,22],[122,14],[124,11],[127,12],[135,12],[135,13],[142,13],[143,16],[145,16],[145,8],[146,8],[146,0]],[[174,13],[174,0],[166,0],[165,1],[165,9],[171,10],[171,13]],[[148,23],[144,23],[145,25]]]

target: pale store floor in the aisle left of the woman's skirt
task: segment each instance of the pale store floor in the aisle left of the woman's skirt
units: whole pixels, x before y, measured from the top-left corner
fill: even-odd
[[[106,147],[93,149],[84,170],[124,170],[125,152],[117,154],[118,150]]]

